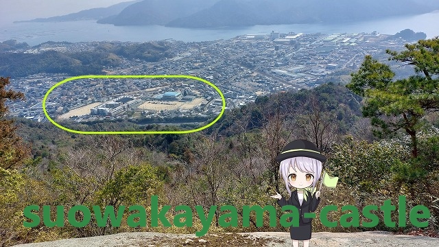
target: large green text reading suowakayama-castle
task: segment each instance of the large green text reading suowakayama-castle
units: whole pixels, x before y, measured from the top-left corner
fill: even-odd
[[[40,212],[40,207],[37,205],[29,205],[25,207],[23,214],[29,220],[23,222],[25,227],[36,227],[40,224],[40,213],[43,215],[43,224],[47,227],[63,227],[64,226],[64,206],[56,207],[56,217],[51,217],[50,206],[43,206]],[[209,211],[206,213],[202,206],[195,206],[195,212],[192,211],[191,207],[187,205],[178,205],[175,207],[174,211],[179,212],[174,215],[173,219],[170,221],[166,214],[171,209],[171,206],[165,205],[158,207],[158,196],[151,196],[151,210],[150,210],[150,227],[157,227],[158,222],[165,227],[171,227],[172,224],[176,227],[191,227],[193,226],[194,213],[200,219],[202,223],[202,229],[197,231],[195,235],[197,237],[205,235],[213,222],[213,217],[215,216],[215,211],[217,211],[217,206],[211,206]],[[361,221],[361,226],[363,227],[375,227],[379,224],[379,217],[374,213],[381,211],[383,213],[383,222],[385,226],[390,228],[396,227],[396,222],[392,221],[392,211],[396,210],[396,206],[392,205],[390,200],[385,200],[381,207],[377,205],[368,205],[361,210],[362,215],[367,220]],[[78,221],[75,217],[76,213],[82,212],[82,220]],[[112,206],[106,206],[104,212],[102,212],[101,207],[93,206],[89,209],[83,205],[76,205],[71,207],[67,213],[67,221],[71,226],[84,227],[90,224],[92,220],[92,211],[96,221],[97,226],[106,226],[108,219],[111,222],[112,227],[121,226],[124,213],[127,213],[127,224],[130,227],[147,227],[147,211],[145,207],[141,205],[132,205],[130,207],[119,206],[117,208],[117,213],[115,213],[115,208]],[[237,208],[231,205],[224,205],[219,209],[218,224],[221,227],[238,227],[238,211]],[[292,205],[286,205],[282,207],[283,215],[279,219],[281,226],[298,226],[299,225],[299,212],[298,209]],[[343,227],[358,227],[360,226],[360,213],[359,209],[353,205],[346,205],[342,207],[342,213],[344,213],[340,220],[330,221],[328,219],[328,214],[331,211],[338,211],[337,206],[328,205],[320,210],[320,222],[327,227],[340,226]],[[259,205],[254,206],[244,206],[242,207],[242,227],[250,226],[250,216],[254,213],[256,217],[256,225],[258,227],[263,226],[263,214],[267,212],[269,215],[269,225],[276,226],[276,209],[272,205],[267,205],[261,207]],[[305,213],[304,217],[315,218],[316,213]],[[428,222],[425,219],[430,217],[430,211],[427,207],[423,205],[416,205],[409,212],[410,223],[416,227],[427,227]],[[405,196],[399,196],[398,200],[398,227],[406,226],[407,210],[406,210],[406,198]],[[55,219],[55,220],[51,220]],[[424,221],[419,221],[424,220]],[[172,222],[172,224],[171,224]]]

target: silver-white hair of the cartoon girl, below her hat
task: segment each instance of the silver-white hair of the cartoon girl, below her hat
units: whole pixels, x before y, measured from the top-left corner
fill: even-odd
[[[322,162],[316,160],[315,158],[308,157],[294,157],[287,158],[281,161],[281,166],[279,167],[279,174],[281,178],[285,181],[285,187],[289,194],[291,194],[291,190],[289,189],[288,183],[288,175],[289,175],[289,167],[292,167],[296,172],[296,167],[300,170],[300,172],[310,172],[314,176],[312,191],[317,185],[318,180],[320,179],[320,174],[322,174]]]

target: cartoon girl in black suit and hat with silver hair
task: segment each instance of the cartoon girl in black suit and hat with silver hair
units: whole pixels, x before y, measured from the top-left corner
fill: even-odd
[[[303,240],[304,247],[309,246],[312,219],[305,218],[303,215],[316,211],[320,203],[320,190],[316,191],[316,185],[322,173],[322,163],[326,159],[320,154],[316,145],[306,140],[288,143],[281,154],[276,156],[276,161],[281,163],[279,174],[285,181],[285,187],[290,196],[286,199],[276,193],[271,197],[278,199],[277,203],[281,207],[293,205],[299,211],[299,226],[289,228],[294,247],[298,247],[299,240]],[[296,190],[291,191],[289,187],[294,187]]]

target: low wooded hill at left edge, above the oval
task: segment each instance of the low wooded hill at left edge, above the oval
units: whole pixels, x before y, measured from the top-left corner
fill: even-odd
[[[3,43],[10,43],[12,40]],[[123,59],[140,59],[156,62],[173,56],[169,51],[169,43],[165,41],[145,43],[99,42],[95,47],[84,51],[64,52],[44,50],[36,53],[1,52],[0,71],[11,77],[25,77],[36,73],[66,73],[67,75],[99,75],[104,67],[117,67]],[[44,47],[44,43],[36,47],[27,47],[21,43],[21,49],[28,50]],[[4,49],[13,47],[5,45]],[[62,47],[62,43],[60,43]]]

